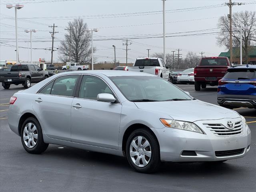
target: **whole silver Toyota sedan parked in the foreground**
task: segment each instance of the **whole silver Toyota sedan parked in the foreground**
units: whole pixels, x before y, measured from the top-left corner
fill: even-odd
[[[64,72],[19,91],[10,99],[8,122],[29,153],[59,144],[126,156],[144,173],[161,161],[241,158],[251,142],[237,112],[196,100],[152,74],[117,70]]]

